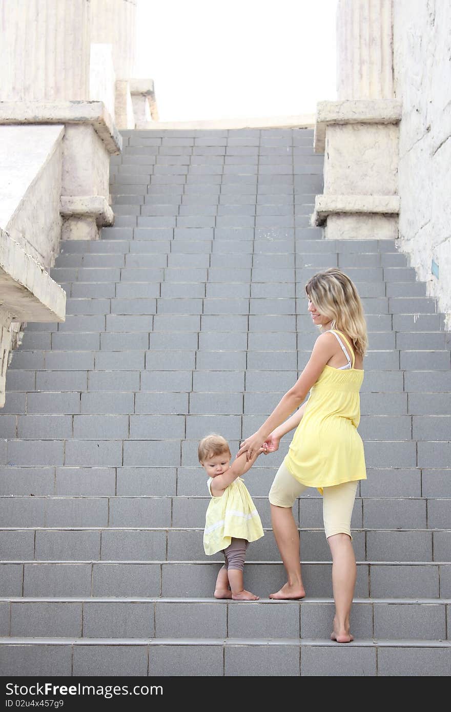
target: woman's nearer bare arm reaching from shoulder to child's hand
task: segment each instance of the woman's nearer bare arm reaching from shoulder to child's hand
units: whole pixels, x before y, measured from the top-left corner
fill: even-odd
[[[284,421],[293,413],[294,409],[298,408],[299,405],[304,401],[306,394],[309,392],[314,383],[318,380],[321,373],[323,372],[324,366],[331,359],[334,354],[335,339],[332,340],[332,336],[328,333],[323,333],[316,339],[315,345],[311,352],[311,357],[307,363],[304,371],[299,376],[294,386],[286,392],[284,397],[281,398],[279,404],[276,405],[273,412],[266,419],[263,425],[249,438],[242,442],[242,446],[238,451],[238,456],[242,455],[244,452],[247,453],[247,458],[251,459],[254,452],[263,446],[264,441],[269,437],[274,429],[281,426],[284,428]],[[299,409],[300,410],[300,409]],[[303,413],[304,414],[304,413]],[[294,424],[285,430],[283,434],[291,430],[296,423],[296,418],[301,419],[299,416],[299,411],[294,413],[291,418],[286,422],[288,425],[290,422]],[[282,425],[283,424],[283,425]]]

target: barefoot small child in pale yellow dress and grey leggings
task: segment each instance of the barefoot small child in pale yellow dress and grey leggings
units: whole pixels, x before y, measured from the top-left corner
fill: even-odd
[[[227,440],[212,434],[199,442],[199,462],[209,476],[207,487],[212,500],[207,508],[204,529],[204,550],[208,555],[224,552],[225,564],[217,576],[215,598],[234,601],[257,601],[244,589],[243,569],[249,541],[264,533],[259,513],[247,488],[240,479],[252,467],[263,448],[246,461],[244,453],[230,466],[232,453]]]

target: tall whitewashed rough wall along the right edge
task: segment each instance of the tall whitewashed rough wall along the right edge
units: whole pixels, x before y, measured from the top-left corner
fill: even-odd
[[[400,248],[451,322],[451,1],[396,0],[393,8]]]

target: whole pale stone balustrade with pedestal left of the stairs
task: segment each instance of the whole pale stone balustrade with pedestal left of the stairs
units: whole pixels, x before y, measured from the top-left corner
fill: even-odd
[[[109,164],[121,146],[101,102],[0,103],[0,405],[21,325],[65,318],[48,274],[60,240],[113,224]]]

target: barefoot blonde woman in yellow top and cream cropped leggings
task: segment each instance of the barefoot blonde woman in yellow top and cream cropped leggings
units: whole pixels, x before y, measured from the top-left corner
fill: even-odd
[[[313,324],[321,328],[301,376],[238,455],[250,459],[261,446],[274,452],[289,431],[296,432],[289,454],[269,492],[271,522],[287,574],[274,599],[305,596],[299,563],[299,532],[291,508],[307,487],[323,495],[323,520],[332,554],[335,617],[331,639],[353,640],[350,614],[356,585],[356,557],[351,514],[358,480],[366,479],[360,421],[363,356],[368,346],[366,321],[356,287],[336,268],[318,273],[306,284]],[[309,399],[288,420],[294,409]]]

